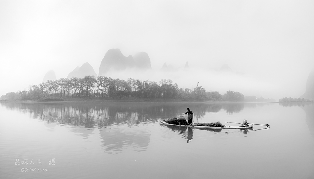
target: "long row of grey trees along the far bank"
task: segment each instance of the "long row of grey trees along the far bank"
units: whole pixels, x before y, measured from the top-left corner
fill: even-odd
[[[33,85],[28,91],[9,92],[1,96],[1,100],[60,100],[65,98],[173,98],[180,100],[213,100],[213,101],[244,101],[240,92],[227,91],[207,92],[198,83],[194,89],[179,88],[171,80],[140,81],[128,78],[122,80],[106,76],[72,77],[42,82]],[[256,98],[256,97],[255,97]]]

